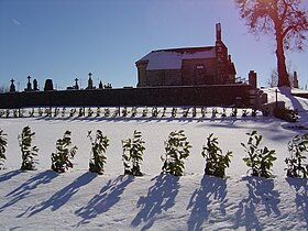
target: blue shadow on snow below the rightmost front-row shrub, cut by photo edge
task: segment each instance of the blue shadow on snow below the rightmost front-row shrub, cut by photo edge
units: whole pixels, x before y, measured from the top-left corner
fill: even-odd
[[[308,228],[308,179],[288,177],[286,180],[296,191],[296,208],[302,211],[307,224],[306,228]]]

